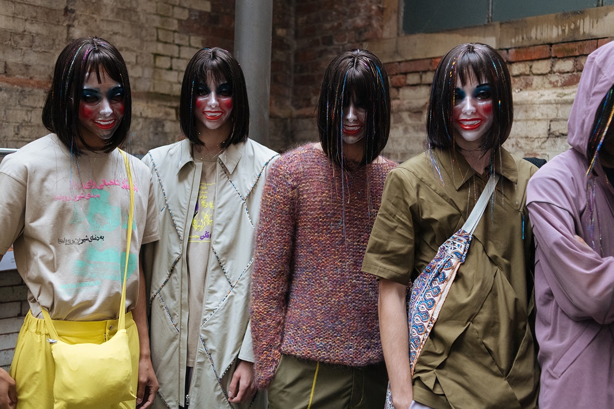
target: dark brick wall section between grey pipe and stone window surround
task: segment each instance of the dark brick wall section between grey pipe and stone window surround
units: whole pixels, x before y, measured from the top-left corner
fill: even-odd
[[[381,0],[274,2],[273,149],[318,139],[313,114],[324,71],[340,51],[383,36],[383,9]]]

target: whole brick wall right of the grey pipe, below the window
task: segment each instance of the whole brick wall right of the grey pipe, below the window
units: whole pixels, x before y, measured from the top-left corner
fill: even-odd
[[[273,26],[271,73],[273,148],[284,150],[317,139],[314,109],[324,69],[340,50],[360,47],[375,52],[391,78],[391,137],[384,155],[396,161],[424,149],[433,72],[441,56],[462,42],[485,42],[508,63],[515,121],[505,147],[521,156],[545,159],[566,150],[567,116],[584,61],[610,40],[614,23],[614,6],[607,6],[445,33],[398,36],[394,29],[396,0],[363,1],[356,7],[348,1],[287,3],[274,4],[278,18]],[[591,28],[583,29],[587,26]],[[284,80],[277,86],[279,78]]]

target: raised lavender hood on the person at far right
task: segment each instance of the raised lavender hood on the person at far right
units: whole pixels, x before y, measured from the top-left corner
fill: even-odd
[[[567,142],[585,158],[595,113],[613,84],[614,42],[609,42],[586,59],[567,121]]]

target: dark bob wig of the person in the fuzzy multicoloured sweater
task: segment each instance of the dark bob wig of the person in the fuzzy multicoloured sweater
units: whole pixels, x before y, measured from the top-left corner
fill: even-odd
[[[343,167],[343,110],[354,102],[365,106],[365,149],[360,166],[373,162],[388,142],[390,94],[386,69],[367,50],[341,52],[322,80],[317,104],[317,128],[324,152]],[[360,143],[360,142],[359,142]]]

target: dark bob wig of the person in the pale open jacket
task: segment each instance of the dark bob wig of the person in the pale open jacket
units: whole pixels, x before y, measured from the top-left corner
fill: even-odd
[[[203,48],[190,59],[183,82],[179,100],[179,124],[184,136],[195,145],[204,145],[198,138],[194,116],[194,101],[198,85],[207,80],[228,82],[232,87],[233,110],[230,113],[232,132],[223,142],[223,147],[244,142],[249,133],[249,102],[243,70],[238,61],[229,52],[219,47]]]

